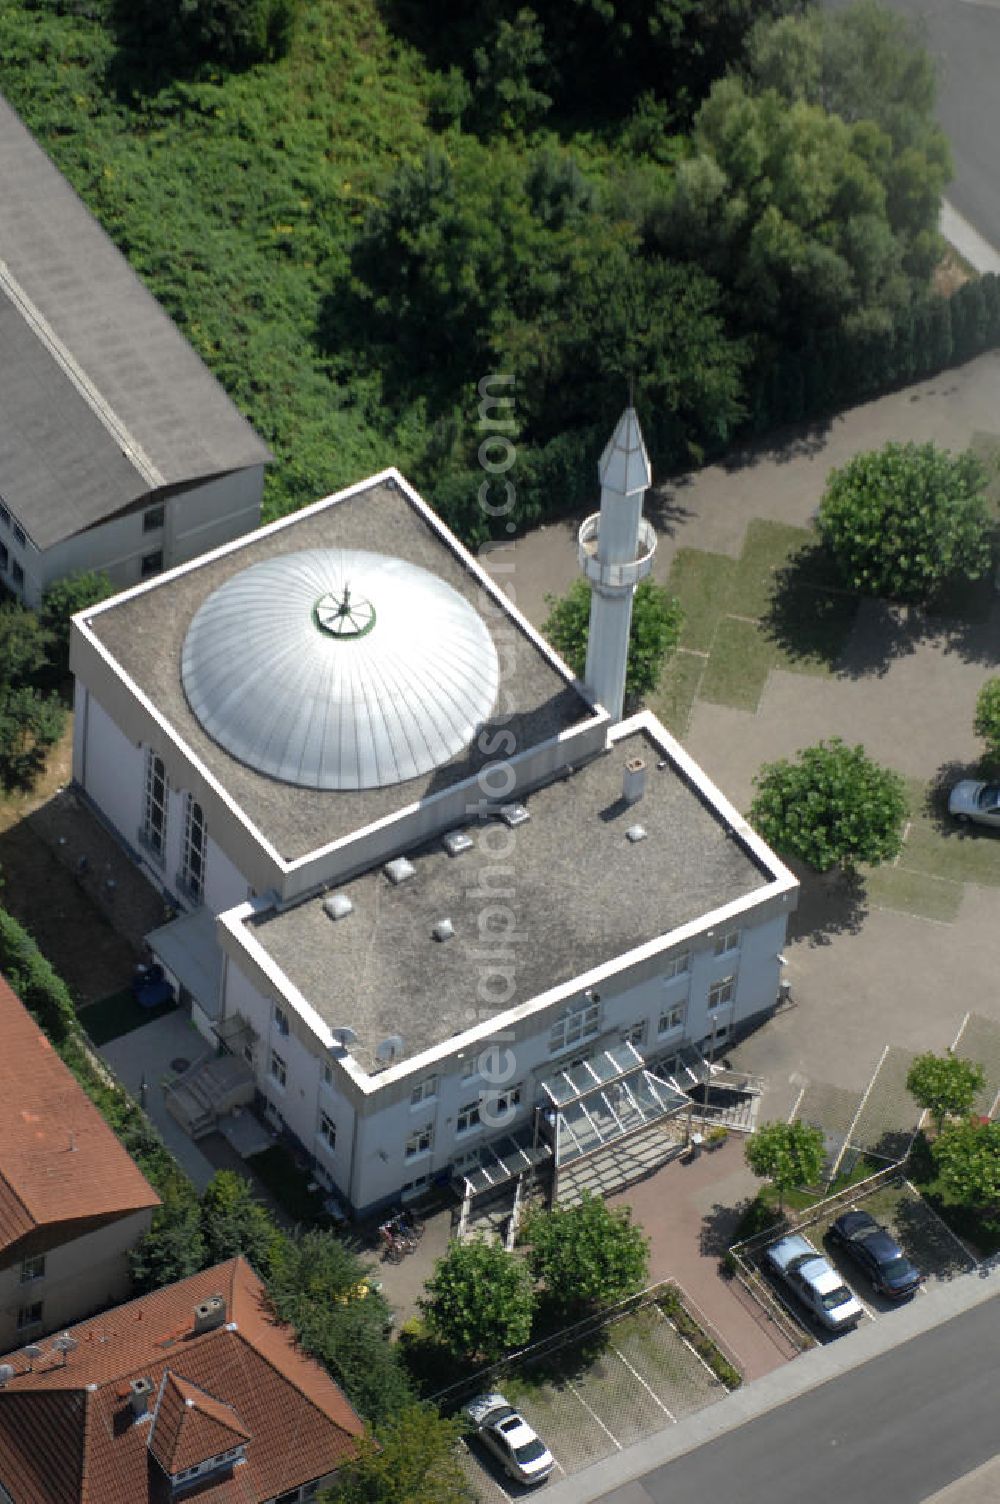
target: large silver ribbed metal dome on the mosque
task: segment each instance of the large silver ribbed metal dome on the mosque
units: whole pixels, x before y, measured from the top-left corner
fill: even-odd
[[[180,678],[208,734],[304,788],[382,788],[448,763],[496,701],[496,648],[442,579],[308,549],[235,575],[195,612]]]

